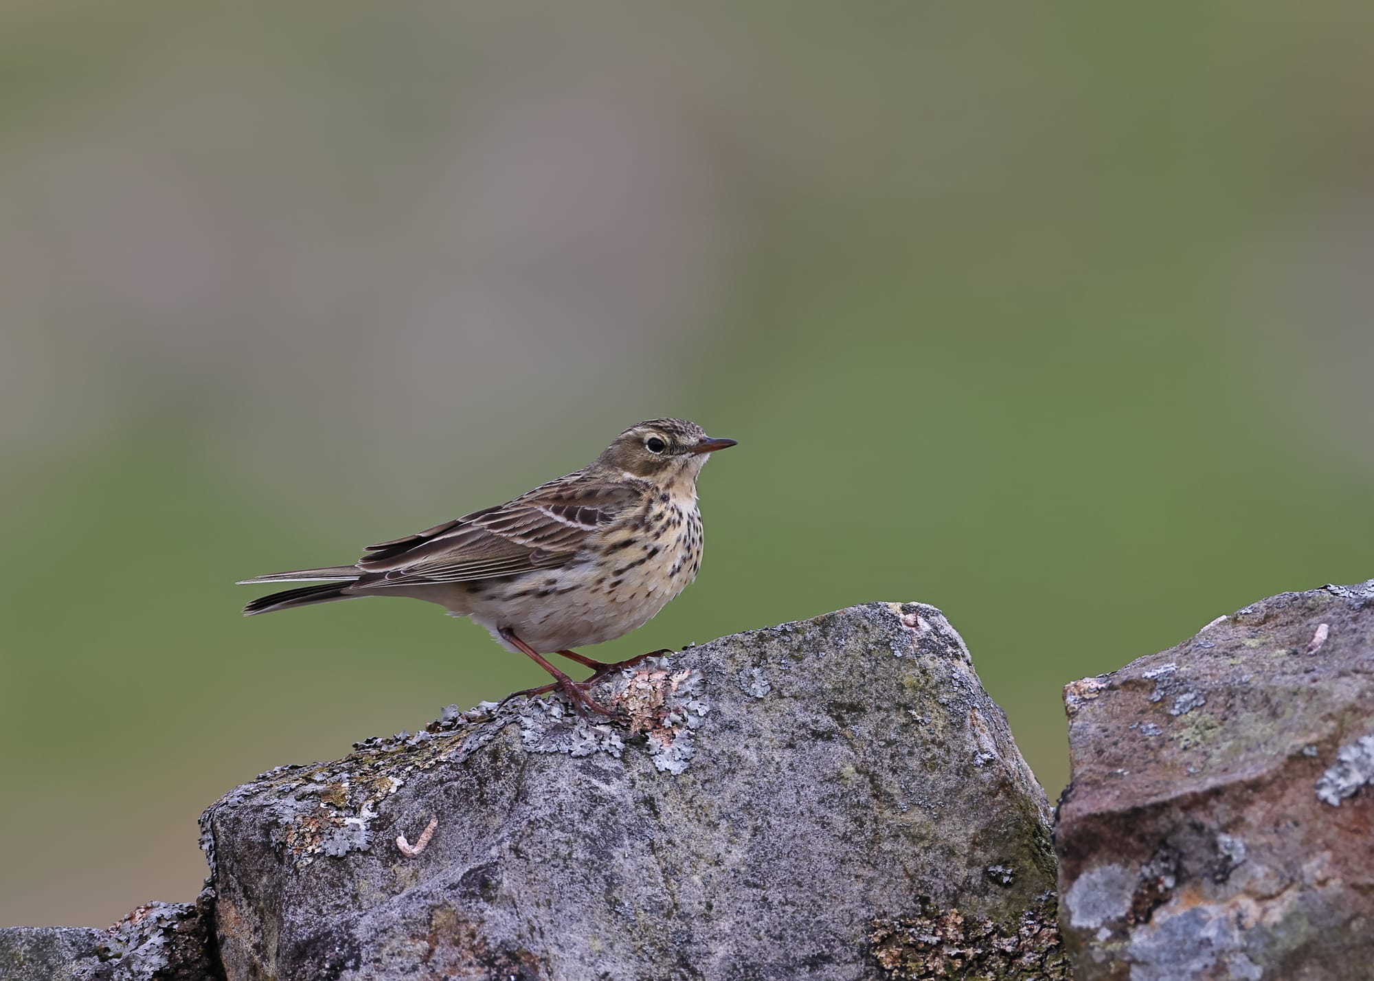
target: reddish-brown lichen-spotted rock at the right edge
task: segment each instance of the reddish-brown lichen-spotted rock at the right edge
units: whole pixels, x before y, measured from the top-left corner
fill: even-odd
[[[1065,688],[1080,981],[1374,965],[1374,580],[1283,594]]]

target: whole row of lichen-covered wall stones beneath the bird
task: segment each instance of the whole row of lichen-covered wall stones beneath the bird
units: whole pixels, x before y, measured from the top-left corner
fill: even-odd
[[[0,930],[0,978],[1367,977],[1374,580],[1068,686],[1052,842],[930,606],[723,638],[596,697],[624,719],[449,708],[262,774],[205,812],[195,904]]]

